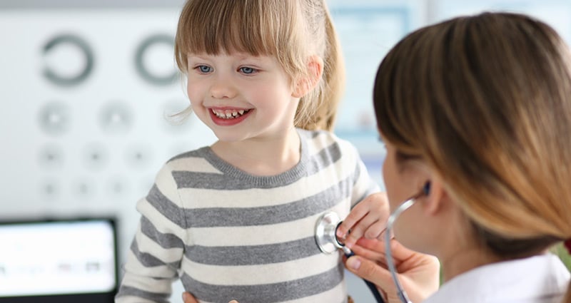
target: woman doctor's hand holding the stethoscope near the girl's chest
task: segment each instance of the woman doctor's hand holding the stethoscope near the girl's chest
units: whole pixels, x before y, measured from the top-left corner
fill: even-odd
[[[391,240],[390,247],[398,279],[412,302],[423,302],[438,290],[440,263],[436,257],[408,250],[397,240]],[[385,261],[385,242],[362,238],[353,246],[353,252],[355,256],[345,260],[345,267],[373,282],[388,303],[401,303]]]

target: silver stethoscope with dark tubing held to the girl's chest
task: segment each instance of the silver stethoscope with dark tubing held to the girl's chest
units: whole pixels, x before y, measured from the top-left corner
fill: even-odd
[[[430,182],[427,182],[423,186],[423,190],[421,192],[414,195],[405,202],[401,203],[399,207],[397,207],[397,209],[392,214],[390,214],[387,221],[387,227],[385,230],[386,262],[388,269],[390,271],[390,275],[393,277],[393,282],[395,283],[395,286],[397,288],[397,295],[400,301],[403,303],[412,303],[412,302],[410,301],[410,299],[408,299],[405,289],[403,289],[403,286],[398,281],[395,262],[393,261],[393,254],[390,252],[390,240],[393,233],[393,225],[395,224],[395,220],[402,212],[408,210],[409,207],[415,204],[416,199],[418,197],[422,195],[428,195],[429,192],[430,192]],[[352,257],[353,255],[355,255],[355,253],[352,252],[347,247],[345,247],[345,245],[343,245],[343,243],[338,240],[336,235],[337,227],[339,227],[341,222],[343,221],[341,221],[340,217],[335,212],[325,212],[325,214],[323,214],[318,219],[317,224],[315,225],[315,242],[317,242],[317,245],[321,250],[321,252],[324,252],[325,254],[332,254],[337,250],[341,250],[343,251],[343,254],[345,254],[345,257]],[[369,287],[370,292],[373,294],[373,297],[375,297],[375,300],[378,303],[385,303],[385,300],[380,295],[380,292],[378,288],[375,286],[375,284],[366,279],[363,280],[365,281],[365,284],[367,284],[367,287]]]

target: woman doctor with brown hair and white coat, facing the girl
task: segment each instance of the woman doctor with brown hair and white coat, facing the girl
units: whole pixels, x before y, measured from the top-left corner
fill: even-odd
[[[569,271],[548,252],[561,242],[571,249],[571,53],[562,38],[519,14],[428,26],[385,57],[374,104],[390,208],[416,197],[394,221],[395,239],[443,267],[429,297],[438,267],[393,240],[412,302],[570,303]],[[355,207],[343,229],[359,218]],[[348,268],[400,302],[383,244],[352,246],[360,256]]]

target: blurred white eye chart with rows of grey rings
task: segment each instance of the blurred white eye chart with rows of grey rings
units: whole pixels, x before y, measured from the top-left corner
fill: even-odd
[[[4,216],[124,213],[132,233],[158,168],[213,142],[193,116],[165,119],[188,106],[177,18],[178,8],[2,14]]]

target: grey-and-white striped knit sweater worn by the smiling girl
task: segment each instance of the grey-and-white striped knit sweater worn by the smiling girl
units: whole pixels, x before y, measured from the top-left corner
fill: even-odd
[[[137,204],[116,302],[167,302],[174,279],[200,302],[346,302],[340,255],[320,252],[315,223],[378,186],[350,143],[298,133],[300,162],[280,175],[250,175],[208,147],[169,160]]]

